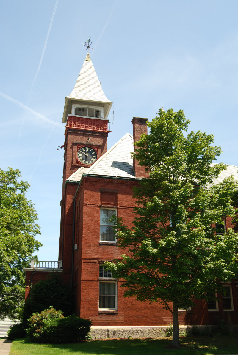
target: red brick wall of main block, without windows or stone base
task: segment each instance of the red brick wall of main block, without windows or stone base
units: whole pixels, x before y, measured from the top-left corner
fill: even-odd
[[[94,326],[167,326],[172,322],[172,314],[159,303],[149,304],[138,302],[133,297],[123,297],[125,288],[120,287],[121,281],[117,288],[118,311],[105,314],[99,311],[99,265],[104,260],[120,259],[125,252],[116,245],[100,243],[100,193],[117,191],[117,215],[131,228],[135,184],[136,181],[85,177],[76,196],[80,228],[75,235],[78,250],[74,251],[74,274],[77,275],[74,280],[77,289],[75,312],[78,316],[90,318]],[[206,302],[197,300],[191,311],[180,311],[179,322],[180,325],[208,324]]]

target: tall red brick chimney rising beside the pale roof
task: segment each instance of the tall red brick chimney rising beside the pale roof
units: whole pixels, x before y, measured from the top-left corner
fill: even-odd
[[[132,124],[133,124],[133,139],[134,143],[141,139],[141,135],[148,134],[146,122],[148,118],[141,118],[141,117],[133,117]],[[136,147],[134,146],[134,151]],[[136,175],[136,178],[148,178],[148,174],[145,173],[144,167],[138,164],[138,161],[133,159],[133,169]]]

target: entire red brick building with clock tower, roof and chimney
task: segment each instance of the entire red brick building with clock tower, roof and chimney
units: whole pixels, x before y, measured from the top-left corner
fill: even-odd
[[[60,272],[75,291],[75,312],[90,318],[97,338],[153,337],[172,322],[172,315],[159,304],[124,298],[121,281],[111,277],[102,264],[120,258],[110,218],[116,214],[132,227],[133,186],[145,176],[133,161],[133,142],[147,134],[145,118],[132,119],[133,137],[127,133],[107,150],[108,114],[112,102],[106,98],[87,54],[72,93],[65,98],[64,171],[61,200],[59,260],[54,265],[32,260],[26,269],[26,296],[30,284],[49,272]],[[229,165],[226,175],[238,179],[238,168]],[[223,179],[223,175],[218,180]],[[224,221],[224,229],[231,220]],[[215,324],[217,316],[237,324],[237,284],[224,285],[227,297],[221,302],[197,301],[180,310],[181,326]]]

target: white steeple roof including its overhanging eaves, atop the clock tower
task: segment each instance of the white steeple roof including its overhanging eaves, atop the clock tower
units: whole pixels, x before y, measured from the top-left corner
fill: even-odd
[[[106,98],[102,90],[89,53],[86,55],[72,93],[65,98],[62,122],[67,122],[67,115],[70,113],[73,102],[103,106],[104,119],[107,118],[112,105],[112,102]]]

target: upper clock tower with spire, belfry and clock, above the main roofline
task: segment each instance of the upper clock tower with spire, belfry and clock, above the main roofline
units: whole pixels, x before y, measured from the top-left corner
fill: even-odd
[[[88,53],[72,93],[65,98],[63,186],[76,170],[89,168],[106,153],[111,105]]]

